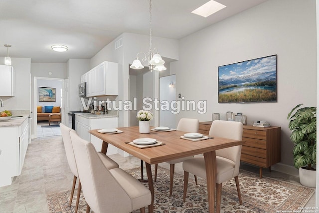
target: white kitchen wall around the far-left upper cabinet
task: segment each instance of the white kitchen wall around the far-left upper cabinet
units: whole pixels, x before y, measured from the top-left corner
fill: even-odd
[[[0,57],[0,61],[4,58]],[[11,58],[15,70],[15,96],[0,97],[3,101],[3,110],[30,110],[30,58]],[[2,108],[0,109],[2,111]]]

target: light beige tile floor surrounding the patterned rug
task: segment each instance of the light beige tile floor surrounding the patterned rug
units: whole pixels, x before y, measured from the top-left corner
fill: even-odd
[[[123,158],[118,154],[109,157],[124,170],[140,166],[140,160],[135,157]],[[166,163],[160,166],[169,168]],[[259,168],[250,165],[241,165],[241,168],[259,173]],[[144,172],[147,177],[146,169]],[[175,172],[183,174],[181,163],[176,164]],[[265,176],[299,184],[298,177],[277,171],[270,173],[266,169],[263,172]],[[46,196],[70,190],[72,181],[62,136],[33,139],[28,146],[21,175],[15,177],[11,185],[0,187],[0,212],[47,213]],[[306,207],[315,207],[315,195]]]

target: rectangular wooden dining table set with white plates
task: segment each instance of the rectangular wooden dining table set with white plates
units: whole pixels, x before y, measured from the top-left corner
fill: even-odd
[[[182,131],[151,131],[148,134],[141,134],[139,133],[138,126],[120,127],[118,129],[123,131],[123,133],[104,134],[99,133],[98,130],[90,130],[90,133],[103,141],[101,152],[106,154],[108,144],[112,144],[145,162],[149,189],[152,194],[152,204],[149,206],[150,213],[153,213],[154,209],[154,184],[151,165],[198,154],[204,154],[205,159],[209,213],[215,212],[214,195],[217,169],[215,151],[242,145],[244,143],[243,141],[227,138],[212,138],[194,142],[181,139],[180,136],[185,134],[185,132]],[[128,144],[128,142],[132,142],[139,138],[156,139],[157,141],[162,142],[163,145],[141,149]]]

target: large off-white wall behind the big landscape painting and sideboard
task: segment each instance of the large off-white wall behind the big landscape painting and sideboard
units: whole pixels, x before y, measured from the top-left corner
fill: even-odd
[[[211,113],[219,112],[224,120],[232,111],[247,115],[248,124],[266,120],[281,126],[281,162],[292,166],[287,115],[299,103],[316,106],[316,44],[313,0],[269,0],[182,38],[179,60],[170,66],[176,73],[176,93],[207,100],[207,113],[181,112],[178,117],[209,121]],[[278,55],[276,103],[218,103],[218,66],[273,54]]]

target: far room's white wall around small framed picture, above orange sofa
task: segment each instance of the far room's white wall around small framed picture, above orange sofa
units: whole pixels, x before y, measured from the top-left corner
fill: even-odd
[[[51,87],[55,88],[55,102],[39,102],[39,90],[37,90],[37,106],[62,106],[61,105],[61,89],[62,82],[59,80],[46,80],[46,79],[38,79],[37,87]]]

